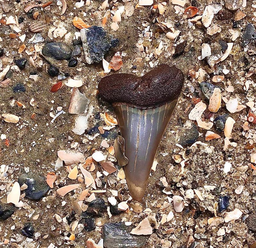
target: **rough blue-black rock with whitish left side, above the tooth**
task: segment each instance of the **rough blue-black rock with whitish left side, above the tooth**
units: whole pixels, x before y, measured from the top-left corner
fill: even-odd
[[[80,31],[81,40],[83,42],[85,60],[88,64],[94,62],[99,63],[104,55],[111,49],[116,47],[118,39],[107,34],[106,31],[99,26],[91,26],[83,28]]]

